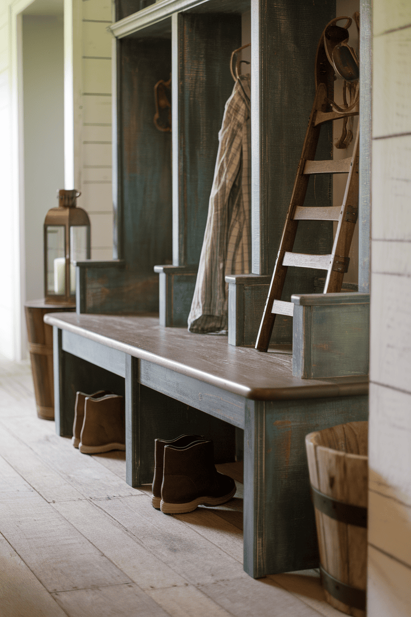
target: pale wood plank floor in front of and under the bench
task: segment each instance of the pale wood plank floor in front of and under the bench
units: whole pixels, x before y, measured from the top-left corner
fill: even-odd
[[[124,452],[82,455],[36,415],[28,362],[0,360],[1,617],[338,617],[315,570],[242,566],[242,469],[219,508],[163,515]]]

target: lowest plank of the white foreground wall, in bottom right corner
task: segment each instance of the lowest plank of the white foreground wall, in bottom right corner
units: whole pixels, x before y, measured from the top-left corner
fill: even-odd
[[[411,568],[368,545],[367,614],[409,617]]]

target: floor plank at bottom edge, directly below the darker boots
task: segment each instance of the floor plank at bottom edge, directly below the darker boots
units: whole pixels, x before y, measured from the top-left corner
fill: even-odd
[[[231,615],[192,585],[149,590],[147,593],[171,617],[210,617],[210,615],[229,617]]]

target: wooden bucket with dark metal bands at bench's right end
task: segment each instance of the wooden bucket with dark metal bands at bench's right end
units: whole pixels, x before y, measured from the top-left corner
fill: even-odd
[[[306,449],[327,602],[347,615],[364,617],[368,422],[310,433]]]

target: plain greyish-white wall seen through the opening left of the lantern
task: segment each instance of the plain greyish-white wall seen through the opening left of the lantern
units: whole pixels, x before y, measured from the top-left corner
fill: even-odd
[[[26,300],[44,296],[43,223],[64,188],[63,15],[23,15]]]

